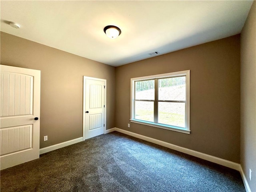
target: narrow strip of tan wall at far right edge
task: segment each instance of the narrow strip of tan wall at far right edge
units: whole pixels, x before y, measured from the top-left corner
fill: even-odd
[[[241,33],[241,166],[256,191],[256,2]],[[249,178],[252,170],[252,181]]]

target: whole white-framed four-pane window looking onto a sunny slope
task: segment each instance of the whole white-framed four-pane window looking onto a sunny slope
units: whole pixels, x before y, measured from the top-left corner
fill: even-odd
[[[190,70],[131,79],[131,122],[190,134]]]

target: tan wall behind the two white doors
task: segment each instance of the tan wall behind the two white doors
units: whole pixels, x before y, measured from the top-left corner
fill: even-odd
[[[40,148],[82,137],[83,76],[107,80],[106,128],[115,126],[114,67],[3,32],[1,64],[41,70]]]

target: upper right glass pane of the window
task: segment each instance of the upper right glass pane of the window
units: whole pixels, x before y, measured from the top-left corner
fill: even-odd
[[[186,77],[172,77],[158,80],[158,100],[186,100]]]

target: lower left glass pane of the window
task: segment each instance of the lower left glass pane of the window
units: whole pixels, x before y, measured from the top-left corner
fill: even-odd
[[[154,122],[154,101],[135,101],[135,119]]]

